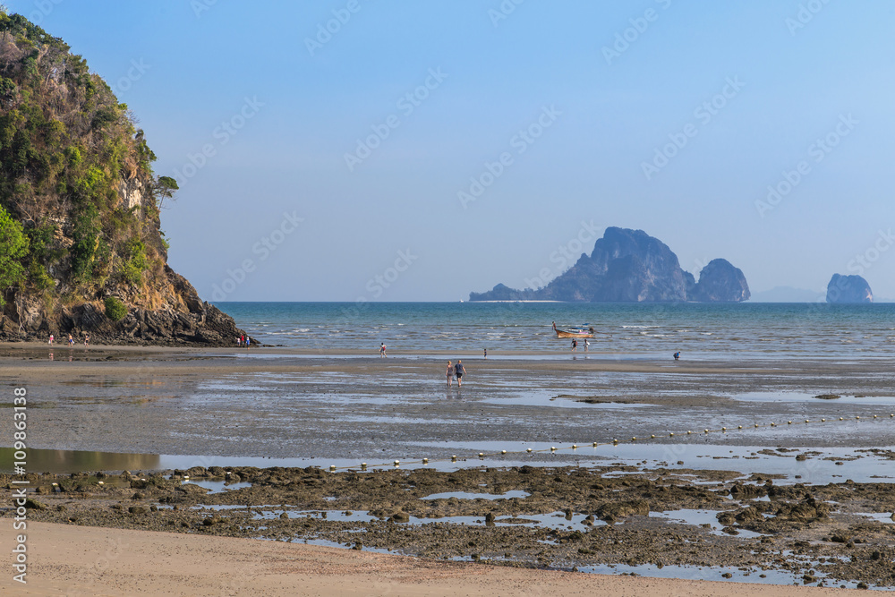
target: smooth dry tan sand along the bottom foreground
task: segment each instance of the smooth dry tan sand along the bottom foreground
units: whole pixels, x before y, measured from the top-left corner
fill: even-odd
[[[717,583],[433,562],[294,543],[32,523],[21,595],[833,595]]]

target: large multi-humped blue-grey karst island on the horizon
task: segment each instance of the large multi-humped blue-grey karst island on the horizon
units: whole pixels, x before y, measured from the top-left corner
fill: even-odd
[[[542,288],[516,290],[503,284],[470,301],[564,301],[577,303],[738,303],[750,296],[742,270],[728,260],[706,265],[696,282],[678,256],[643,230],[609,227],[566,272]]]

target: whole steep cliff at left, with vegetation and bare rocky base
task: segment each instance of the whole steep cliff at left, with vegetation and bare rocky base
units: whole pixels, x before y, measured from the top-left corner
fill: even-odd
[[[80,55],[0,7],[0,339],[232,345],[243,334],[167,266],[177,185]]]

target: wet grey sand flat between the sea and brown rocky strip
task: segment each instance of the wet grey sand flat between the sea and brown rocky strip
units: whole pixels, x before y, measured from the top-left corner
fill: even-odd
[[[479,357],[465,359],[462,388],[447,388],[444,363],[453,354],[320,358],[273,349],[76,347],[72,362],[60,360],[67,348],[50,362],[46,347],[6,354],[15,349],[19,354],[0,354],[0,381],[29,388],[31,448],[391,462],[475,455],[478,446],[501,443],[516,451],[655,435],[653,443],[678,445],[686,431],[739,426],[689,443],[895,443],[891,424],[866,422],[895,411],[895,376],[884,362]],[[814,398],[821,394],[841,398]],[[768,427],[839,417],[835,427]],[[0,444],[12,445],[11,433],[0,429]]]

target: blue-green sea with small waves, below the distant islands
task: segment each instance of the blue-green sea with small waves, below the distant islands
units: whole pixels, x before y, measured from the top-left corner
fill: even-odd
[[[556,321],[594,328],[589,353],[626,359],[895,357],[895,303],[216,304],[259,342],[309,351],[377,354],[385,343],[405,355],[567,357],[571,341],[556,337]]]

